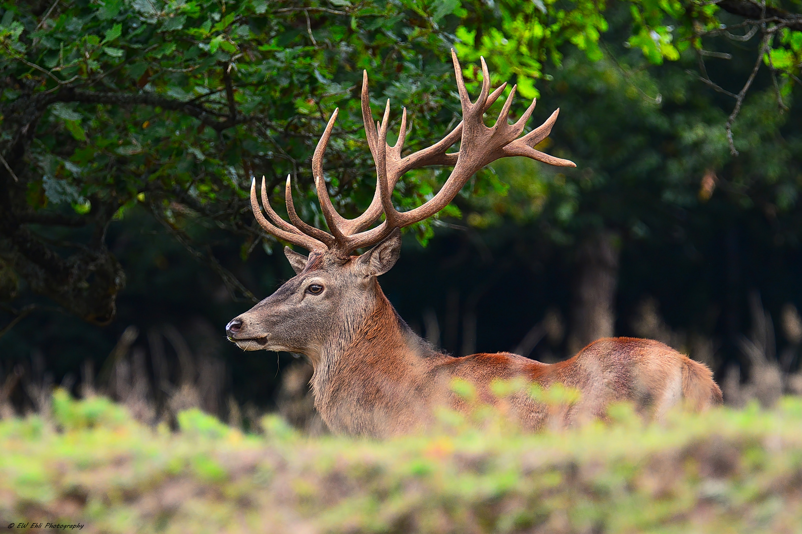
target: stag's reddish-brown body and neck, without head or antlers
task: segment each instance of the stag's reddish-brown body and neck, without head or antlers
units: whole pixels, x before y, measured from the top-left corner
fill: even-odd
[[[702,363],[652,339],[598,339],[571,359],[541,363],[508,352],[454,357],[419,339],[382,294],[336,363],[315,374],[315,405],[336,432],[395,435],[424,428],[434,408],[467,408],[450,384],[464,379],[484,402],[494,379],[524,377],[542,387],[553,383],[576,388],[580,401],[565,412],[564,424],[577,417],[604,416],[615,401],[633,402],[639,411],[661,416],[684,400],[703,409],[721,402],[721,391]],[[317,366],[316,366],[317,367]],[[528,395],[509,399],[513,415],[527,428],[545,423],[548,409]]]

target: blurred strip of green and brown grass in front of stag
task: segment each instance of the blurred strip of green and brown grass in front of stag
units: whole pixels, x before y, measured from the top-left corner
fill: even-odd
[[[197,410],[171,432],[63,391],[52,414],[0,421],[0,528],[802,532],[796,397],[661,424],[622,405],[608,424],[538,434],[448,413],[431,435],[386,441],[309,438],[274,416],[244,435]]]

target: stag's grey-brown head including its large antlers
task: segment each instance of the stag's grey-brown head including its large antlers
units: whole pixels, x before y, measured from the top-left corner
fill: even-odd
[[[535,100],[514,123],[508,115],[516,86],[504,102],[492,127],[484,125],[483,115],[496,102],[507,86],[490,91],[488,67],[481,60],[482,89],[476,102],[471,102],[462,77],[460,62],[452,50],[457,88],[460,91],[463,121],[448,135],[431,147],[402,156],[407,135],[407,110],[403,110],[398,142],[387,144],[390,101],[381,122],[373,124],[370,96],[367,90],[367,71],[363,75],[362,112],[368,147],[376,166],[377,187],[370,207],[355,219],[345,219],[334,210],[323,179],[323,153],[334,128],[338,110],[334,110],[326,125],[312,159],[315,187],[320,207],[331,233],[304,223],[293,205],[290,177],[286,182],[286,205],[290,223],[282,219],[270,204],[261,182],[261,201],[268,219],[261,213],[257,200],[256,180],[251,183],[251,207],[257,222],[266,232],[310,251],[307,257],[285,247],[296,275],[273,295],[233,319],[226,327],[229,339],[244,350],[267,349],[294,351],[309,355],[313,361],[326,340],[342,339],[350,329],[358,327],[380,295],[376,277],[389,271],[399,257],[400,229],[435,215],[454,199],[464,184],[482,167],[496,159],[525,156],[561,167],[576,167],[566,159],[555,158],[534,147],[551,132],[559,109],[546,122],[519,137],[535,107]],[[447,152],[455,143],[456,152]],[[426,166],[453,166],[451,175],[438,193],[427,203],[410,211],[399,212],[391,202],[398,180],[412,169]],[[374,224],[384,215],[384,220]],[[376,244],[378,243],[378,244]],[[360,248],[371,247],[363,255],[354,255]]]

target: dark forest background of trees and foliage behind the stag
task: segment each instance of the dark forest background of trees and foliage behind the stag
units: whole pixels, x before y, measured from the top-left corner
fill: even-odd
[[[549,362],[605,335],[653,337],[710,365],[735,404],[767,381],[802,392],[800,2],[0,13],[0,400],[15,410],[54,383],[229,418],[282,404],[302,359],[224,332],[292,275],[253,223],[250,179],[267,175],[283,208],[293,175],[322,226],[310,155],[339,106],[327,179],[355,215],[375,186],[362,70],[375,114],[384,98],[394,117],[407,106],[423,147],[459,116],[452,46],[472,90],[484,54],[493,86],[518,84],[518,113],[537,96],[533,124],[559,106],[539,148],[577,169],[504,160],[413,227],[380,282],[415,331],[454,355]],[[446,176],[410,173],[396,204]]]

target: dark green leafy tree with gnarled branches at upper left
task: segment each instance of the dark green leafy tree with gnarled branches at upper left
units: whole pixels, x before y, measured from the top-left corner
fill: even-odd
[[[302,215],[321,224],[306,202],[306,167],[335,106],[331,195],[345,213],[363,207],[373,183],[363,179],[371,162],[354,98],[362,70],[374,94],[410,108],[425,143],[454,117],[440,89],[451,40],[440,25],[462,11],[442,2],[3,3],[3,300],[19,277],[66,311],[110,321],[125,276],[104,234],[136,203],[233,295],[253,300],[188,224],[239,235],[243,258],[259,243],[271,247],[249,215],[247,189],[264,174],[277,195],[288,173]],[[399,203],[431,185],[412,177]],[[31,309],[7,308],[17,319]]]

